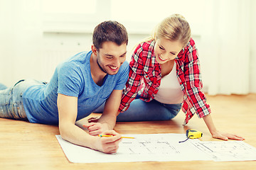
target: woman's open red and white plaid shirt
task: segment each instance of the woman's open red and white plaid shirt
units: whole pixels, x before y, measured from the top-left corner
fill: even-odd
[[[129,63],[129,79],[122,94],[119,112],[129,108],[130,103],[139,93],[143,101],[154,99],[161,83],[161,67],[154,55],[155,41],[142,42],[134,50],[132,61]],[[201,91],[200,64],[195,42],[191,38],[188,45],[175,58],[178,82],[183,91],[182,111],[186,114],[183,125],[188,123],[195,113],[199,118],[210,113],[206,96]]]

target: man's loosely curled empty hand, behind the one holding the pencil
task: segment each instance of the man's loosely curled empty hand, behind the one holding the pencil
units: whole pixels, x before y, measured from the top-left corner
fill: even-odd
[[[86,123],[82,126],[87,128],[87,130],[89,130],[89,134],[92,136],[102,134],[102,132],[109,130],[107,123]]]

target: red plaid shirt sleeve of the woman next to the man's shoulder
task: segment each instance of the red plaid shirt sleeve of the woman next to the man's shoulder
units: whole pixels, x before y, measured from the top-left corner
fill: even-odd
[[[122,93],[122,100],[118,110],[121,113],[129,108],[130,103],[134,100],[139,91],[139,86],[142,79],[142,72],[144,69],[142,52],[142,45],[138,45],[132,55],[132,61],[129,63],[129,79],[126,84],[126,88]]]

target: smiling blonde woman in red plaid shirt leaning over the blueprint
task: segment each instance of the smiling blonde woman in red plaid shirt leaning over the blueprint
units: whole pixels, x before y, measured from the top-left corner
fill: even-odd
[[[198,52],[183,16],[165,18],[154,35],[136,47],[129,66],[117,121],[170,120],[182,106],[184,125],[196,113],[214,138],[244,140],[219,132],[213,124],[210,106],[201,91]]]

